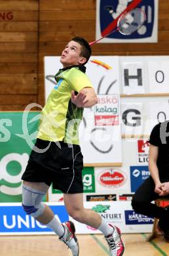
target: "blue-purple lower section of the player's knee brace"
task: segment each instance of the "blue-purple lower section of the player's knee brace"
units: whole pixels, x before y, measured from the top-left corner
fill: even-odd
[[[24,205],[22,203],[22,207],[26,214],[31,215],[34,218],[41,216],[45,209],[45,205],[43,203],[40,203],[40,205]]]

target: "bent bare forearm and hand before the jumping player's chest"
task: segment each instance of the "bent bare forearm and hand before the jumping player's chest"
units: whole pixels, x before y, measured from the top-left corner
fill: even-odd
[[[71,91],[71,101],[78,108],[90,108],[98,103],[98,98],[94,88],[84,87],[77,95],[74,91]]]

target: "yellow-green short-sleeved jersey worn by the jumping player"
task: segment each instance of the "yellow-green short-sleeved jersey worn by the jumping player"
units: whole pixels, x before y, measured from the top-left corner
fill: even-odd
[[[82,65],[70,66],[55,75],[57,84],[41,112],[37,138],[79,144],[78,129],[83,108],[78,108],[71,102],[71,91],[79,93],[85,87],[92,87],[85,69]]]

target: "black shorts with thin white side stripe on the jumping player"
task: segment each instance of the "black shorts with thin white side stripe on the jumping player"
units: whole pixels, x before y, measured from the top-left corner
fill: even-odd
[[[50,147],[46,152],[31,151],[26,171],[22,180],[29,182],[45,182],[48,186],[61,190],[66,194],[83,193],[83,154],[81,147],[75,144],[37,139],[35,146],[40,149]]]

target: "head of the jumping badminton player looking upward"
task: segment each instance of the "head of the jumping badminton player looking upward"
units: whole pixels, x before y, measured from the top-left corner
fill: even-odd
[[[64,68],[72,65],[84,65],[88,62],[91,53],[90,45],[83,37],[73,37],[62,52],[60,62]]]

